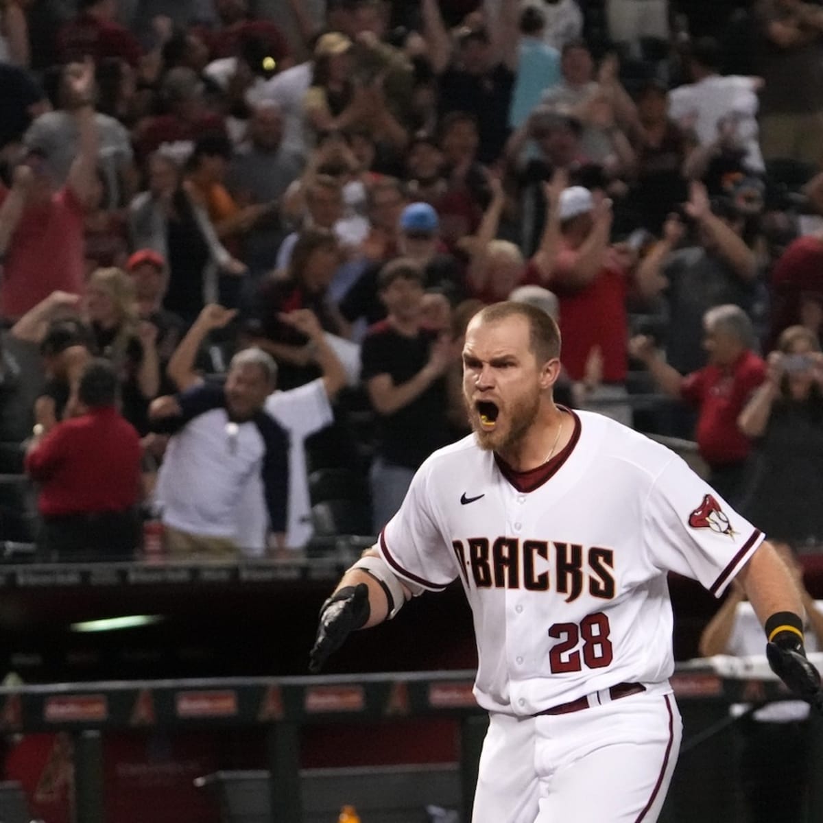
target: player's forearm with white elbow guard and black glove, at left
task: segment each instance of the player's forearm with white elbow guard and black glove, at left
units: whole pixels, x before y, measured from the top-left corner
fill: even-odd
[[[320,609],[309,671],[319,672],[352,631],[368,629],[395,616],[412,593],[388,569],[377,551],[368,549],[351,567]]]

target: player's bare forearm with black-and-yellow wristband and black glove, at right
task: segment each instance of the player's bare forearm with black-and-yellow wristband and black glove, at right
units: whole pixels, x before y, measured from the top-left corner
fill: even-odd
[[[772,671],[803,700],[823,713],[821,676],[806,658],[803,606],[791,574],[770,543],[764,542],[740,572],[766,632]]]

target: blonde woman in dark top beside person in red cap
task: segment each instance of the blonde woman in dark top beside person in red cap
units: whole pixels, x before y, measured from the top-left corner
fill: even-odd
[[[91,273],[85,309],[95,353],[110,360],[119,375],[123,416],[145,434],[148,404],[160,390],[157,328],[139,319],[132,278],[119,268]]]

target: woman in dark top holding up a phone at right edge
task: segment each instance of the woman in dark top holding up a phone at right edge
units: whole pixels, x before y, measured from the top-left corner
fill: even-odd
[[[823,353],[814,332],[790,326],[767,358],[765,383],[737,421],[756,440],[741,513],[795,548],[823,539]]]

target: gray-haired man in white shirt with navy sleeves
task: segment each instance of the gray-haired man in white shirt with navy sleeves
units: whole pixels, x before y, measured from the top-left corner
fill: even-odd
[[[276,383],[277,364],[253,347],[232,358],[225,385],[151,403],[152,428],[174,435],[156,490],[171,556],[236,556],[235,512],[258,478],[277,545],[285,545],[289,439],[264,411]]]

